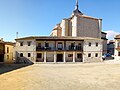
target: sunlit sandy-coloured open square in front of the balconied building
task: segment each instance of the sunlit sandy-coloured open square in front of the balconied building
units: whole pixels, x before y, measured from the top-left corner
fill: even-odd
[[[120,90],[120,64],[34,64],[1,74],[0,90]]]

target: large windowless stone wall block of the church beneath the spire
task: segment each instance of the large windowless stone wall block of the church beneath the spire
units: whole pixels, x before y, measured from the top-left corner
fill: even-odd
[[[101,38],[99,20],[74,16],[72,20],[72,36]]]

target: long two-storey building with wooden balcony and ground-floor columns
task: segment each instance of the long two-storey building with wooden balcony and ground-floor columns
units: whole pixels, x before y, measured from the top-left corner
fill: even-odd
[[[16,60],[21,63],[102,61],[102,40],[73,37],[26,37],[16,39]]]

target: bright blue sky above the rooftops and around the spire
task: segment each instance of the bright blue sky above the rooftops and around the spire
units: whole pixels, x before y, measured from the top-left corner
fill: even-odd
[[[119,0],[78,0],[84,14],[103,19],[108,38],[120,32]],[[76,0],[0,0],[0,37],[48,36],[63,18],[70,17]]]

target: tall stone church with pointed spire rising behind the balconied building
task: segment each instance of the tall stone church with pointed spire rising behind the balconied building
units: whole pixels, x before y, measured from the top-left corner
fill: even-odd
[[[103,39],[103,54],[107,53],[107,38],[102,32],[102,19],[83,14],[78,9],[76,0],[75,10],[69,18],[65,18],[52,30],[50,36],[92,37]]]

